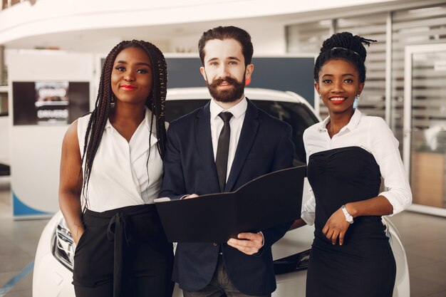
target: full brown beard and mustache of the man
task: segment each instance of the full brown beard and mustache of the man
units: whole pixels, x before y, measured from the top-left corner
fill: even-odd
[[[232,88],[226,88],[224,90],[218,90],[217,87],[220,83],[226,81],[227,83],[231,84]],[[221,103],[232,103],[234,101],[239,100],[242,98],[242,95],[244,93],[244,84],[245,79],[243,78],[242,82],[239,83],[234,78],[218,78],[212,83],[206,83],[207,88],[209,89],[209,93],[211,94],[212,98],[214,100],[221,102]]]

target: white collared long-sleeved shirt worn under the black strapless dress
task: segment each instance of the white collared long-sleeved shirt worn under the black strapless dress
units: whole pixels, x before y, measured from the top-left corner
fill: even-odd
[[[375,157],[380,167],[381,176],[387,191],[379,195],[387,198],[393,206],[393,214],[403,211],[412,203],[412,192],[403,161],[398,150],[398,140],[382,118],[365,116],[356,109],[348,125],[332,138],[328,135],[326,125],[330,117],[308,127],[304,132],[306,162],[316,152],[332,150],[339,147],[361,147]],[[314,223],[316,200],[310,187],[311,197],[302,206],[301,217],[312,225]],[[391,215],[393,215],[391,214]]]

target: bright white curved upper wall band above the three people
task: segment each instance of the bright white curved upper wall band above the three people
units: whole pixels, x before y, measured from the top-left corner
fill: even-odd
[[[1,11],[0,44],[46,33],[249,19],[400,0],[39,0]],[[401,1],[400,1],[401,2]],[[131,5],[129,5],[131,3]]]

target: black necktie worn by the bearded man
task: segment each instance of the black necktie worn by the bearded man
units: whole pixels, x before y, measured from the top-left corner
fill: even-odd
[[[215,167],[217,167],[218,182],[220,192],[223,192],[226,184],[226,174],[228,167],[228,152],[229,152],[229,136],[231,135],[231,126],[229,120],[232,118],[232,113],[219,113],[224,125],[220,136],[218,137],[217,156],[215,157]]]

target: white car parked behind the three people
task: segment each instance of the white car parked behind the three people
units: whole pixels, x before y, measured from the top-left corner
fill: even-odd
[[[302,134],[306,127],[318,122],[313,108],[304,98],[292,92],[246,88],[247,98],[257,107],[286,121],[293,128],[295,165],[305,164]],[[167,92],[166,120],[168,122],[201,107],[209,100],[207,88],[172,88]],[[308,199],[308,182],[304,184],[304,202]],[[408,263],[403,244],[395,226],[385,217],[390,244],[397,264],[393,297],[410,296]],[[305,296],[306,268],[313,242],[313,226],[289,231],[272,247],[277,289],[273,297]],[[36,251],[33,273],[33,297],[74,297],[73,244],[70,231],[61,212],[57,212],[43,229]],[[173,297],[182,297],[177,285]]]

